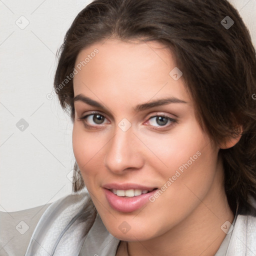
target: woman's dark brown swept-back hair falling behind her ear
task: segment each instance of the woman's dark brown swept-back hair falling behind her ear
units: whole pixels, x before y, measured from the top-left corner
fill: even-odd
[[[227,18],[228,16],[229,18]],[[234,23],[224,27],[227,20]],[[249,32],[226,0],[95,0],[81,10],[60,47],[54,88],[61,106],[74,118],[73,83],[59,84],[73,72],[78,52],[108,37],[157,40],[169,46],[183,72],[197,119],[212,141],[239,134],[238,143],[220,149],[224,187],[233,212],[255,214],[256,59]],[[143,38],[143,39],[142,39]],[[84,186],[79,172],[73,191]],[[74,173],[75,174],[75,173]]]

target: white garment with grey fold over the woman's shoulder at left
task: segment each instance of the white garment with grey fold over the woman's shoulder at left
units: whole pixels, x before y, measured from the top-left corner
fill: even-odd
[[[40,217],[25,255],[78,255],[95,215],[85,188],[61,197]]]

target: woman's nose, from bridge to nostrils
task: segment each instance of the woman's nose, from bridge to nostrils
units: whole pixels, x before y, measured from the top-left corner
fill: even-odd
[[[104,164],[111,172],[122,174],[127,169],[139,169],[143,166],[139,140],[133,134],[132,128],[122,131],[117,127],[105,150]]]

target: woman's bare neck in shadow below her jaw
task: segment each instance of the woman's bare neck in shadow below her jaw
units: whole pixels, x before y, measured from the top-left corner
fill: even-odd
[[[232,223],[234,218],[221,182],[222,173],[218,168],[212,187],[203,199],[196,198],[200,200],[199,205],[182,222],[150,240],[127,244],[122,241],[118,249],[120,254],[116,255],[213,256],[226,235],[221,225],[227,220]]]

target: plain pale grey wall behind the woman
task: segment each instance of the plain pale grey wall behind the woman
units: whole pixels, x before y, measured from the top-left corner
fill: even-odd
[[[56,96],[49,100],[46,95],[52,91],[56,50],[88,2],[0,0],[2,211],[35,207],[71,192],[72,124]],[[255,46],[256,0],[230,2],[247,24]]]

